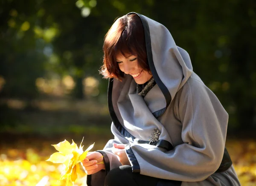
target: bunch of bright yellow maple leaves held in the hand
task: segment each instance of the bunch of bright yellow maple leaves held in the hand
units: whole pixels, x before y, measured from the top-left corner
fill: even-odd
[[[84,138],[83,138],[84,139]],[[82,142],[83,142],[82,139]],[[58,152],[53,153],[47,161],[52,163],[63,163],[65,166],[64,172],[60,180],[67,179],[67,185],[72,181],[74,183],[77,179],[78,174],[82,174],[79,163],[86,158],[88,151],[93,148],[93,145],[90,145],[85,151],[83,151],[82,142],[80,147],[72,139],[72,144],[66,139],[63,142],[59,142],[56,145],[52,145],[56,148]],[[99,162],[103,163],[103,161]],[[98,164],[99,164],[98,163]],[[82,163],[81,163],[82,165]],[[84,170],[85,171],[85,170]]]

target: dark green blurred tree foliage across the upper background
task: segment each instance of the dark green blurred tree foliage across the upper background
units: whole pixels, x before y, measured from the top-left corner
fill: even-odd
[[[163,23],[186,49],[195,73],[221,100],[230,126],[253,127],[256,117],[256,3],[254,0],[3,1],[0,7],[0,95],[37,95],[35,79],[57,73],[76,81],[95,76],[105,33],[116,17],[138,12]],[[107,81],[100,80],[104,94]],[[80,83],[79,83],[80,82]]]

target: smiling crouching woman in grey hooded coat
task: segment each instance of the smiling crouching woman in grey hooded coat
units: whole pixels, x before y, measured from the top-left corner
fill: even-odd
[[[240,185],[224,146],[228,114],[166,27],[129,13],[103,50],[114,139],[84,159],[89,186]]]

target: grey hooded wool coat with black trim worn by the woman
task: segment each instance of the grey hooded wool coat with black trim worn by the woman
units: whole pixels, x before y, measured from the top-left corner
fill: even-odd
[[[105,174],[121,166],[112,148],[113,143],[122,143],[133,172],[180,180],[182,186],[239,186],[232,162],[223,160],[227,112],[193,72],[188,53],[176,46],[168,29],[139,16],[157,84],[143,98],[130,75],[122,82],[109,81],[114,139],[100,151],[106,171],[88,176],[88,185],[102,185]]]

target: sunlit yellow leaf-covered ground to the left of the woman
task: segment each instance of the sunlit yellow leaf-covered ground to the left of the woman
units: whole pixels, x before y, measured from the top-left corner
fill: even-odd
[[[72,136],[72,137],[71,137]],[[101,135],[96,139],[93,135],[85,135],[84,150],[93,142],[93,150],[102,149],[109,135]],[[99,138],[100,138],[99,137]],[[1,136],[0,148],[0,186],[64,186],[58,182],[61,176],[61,166],[46,162],[49,156],[56,152],[51,144],[71,139],[79,145],[80,135],[55,137],[54,139],[35,136]],[[9,141],[7,141],[9,140]],[[77,186],[86,186],[86,177],[76,181]]]

